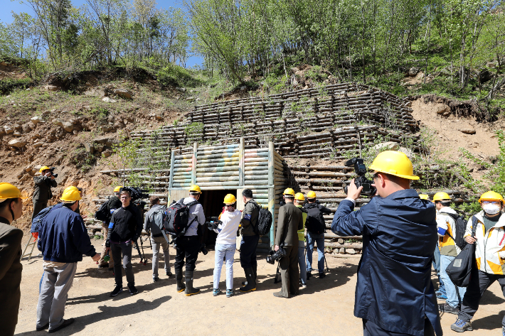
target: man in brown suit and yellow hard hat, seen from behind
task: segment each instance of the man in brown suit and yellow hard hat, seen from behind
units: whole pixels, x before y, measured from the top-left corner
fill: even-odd
[[[280,259],[280,276],[282,289],[274,293],[277,298],[290,298],[299,292],[300,270],[298,269],[298,231],[303,229],[303,215],[294,204],[294,190],[284,191],[286,205],[279,208],[277,232],[275,232],[275,251],[286,250],[286,255]]]

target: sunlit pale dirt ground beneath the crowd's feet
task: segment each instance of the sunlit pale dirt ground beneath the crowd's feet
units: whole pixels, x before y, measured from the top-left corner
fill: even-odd
[[[92,244],[101,250],[102,240],[93,240]],[[112,272],[97,269],[92,259],[85,257],[78,264],[65,308],[65,318],[75,318],[75,323],[58,335],[363,335],[361,320],[353,316],[359,261],[356,257],[328,257],[330,272],[326,278],[310,278],[299,296],[282,299],[272,296],[280,291],[281,284],[274,284],[275,266],[267,264],[265,255],[258,257],[257,291],[238,291],[245,278],[237,252],[235,296],[226,298],[224,293],[217,297],[211,294],[214,251],[209,251],[207,256],[199,254],[196,265],[194,285],[201,288],[201,293],[186,297],[176,292],[174,278],[164,276],[163,269],[161,280],[151,281],[151,249],[148,247],[145,251],[146,266],[139,264],[134,253],[135,283],[139,290],[136,296],[123,291],[110,298],[114,288]],[[174,253],[170,249],[172,272]],[[314,259],[317,260],[317,254]],[[42,335],[46,331],[35,331],[42,260],[38,256],[29,262],[24,259],[22,264],[16,335]],[[225,289],[224,271],[220,289]],[[494,283],[475,315],[472,335],[498,335],[504,313],[505,300],[498,283]],[[450,330],[455,320],[455,315],[442,316],[445,335],[456,335]]]

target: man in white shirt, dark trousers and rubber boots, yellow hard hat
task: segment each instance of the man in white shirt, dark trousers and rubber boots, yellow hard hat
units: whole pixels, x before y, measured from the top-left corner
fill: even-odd
[[[184,204],[189,204],[198,201],[201,197],[201,189],[198,185],[192,185],[189,188],[189,197],[184,198]],[[174,268],[176,271],[177,291],[181,293],[185,291],[186,296],[192,296],[200,292],[200,288],[193,287],[193,272],[195,271],[196,259],[198,259],[198,251],[201,248],[201,241],[198,238],[198,226],[205,224],[205,215],[203,207],[200,203],[193,204],[189,207],[188,223],[191,223],[182,237],[176,238],[176,261]],[[182,266],[186,259],[186,285],[182,281]]]

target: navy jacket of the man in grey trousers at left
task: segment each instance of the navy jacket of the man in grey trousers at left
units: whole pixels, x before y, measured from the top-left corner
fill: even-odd
[[[37,247],[43,260],[60,263],[83,261],[83,254],[94,256],[97,253],[87,235],[83,217],[68,207],[52,210],[44,217]]]

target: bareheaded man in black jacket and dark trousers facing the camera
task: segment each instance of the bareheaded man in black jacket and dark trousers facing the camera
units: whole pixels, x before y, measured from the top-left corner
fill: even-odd
[[[107,234],[107,252],[112,250],[114,259],[114,275],[116,287],[110,296],[117,296],[123,290],[123,275],[121,261],[127,277],[129,293],[137,294],[135,277],[132,269],[132,239],[136,241],[142,233],[143,218],[139,208],[133,204],[130,190],[122,190],[120,193],[122,207],[112,214]]]

